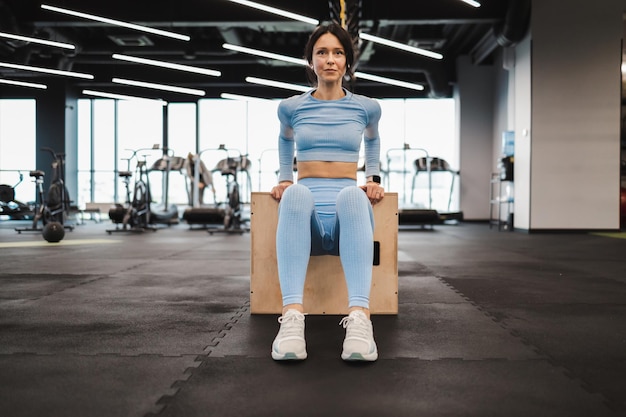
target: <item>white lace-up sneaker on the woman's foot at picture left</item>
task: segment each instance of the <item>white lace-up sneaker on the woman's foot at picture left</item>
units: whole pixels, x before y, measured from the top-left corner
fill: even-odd
[[[280,330],[272,343],[272,359],[275,361],[306,359],[304,340],[304,314],[287,310],[278,318]]]

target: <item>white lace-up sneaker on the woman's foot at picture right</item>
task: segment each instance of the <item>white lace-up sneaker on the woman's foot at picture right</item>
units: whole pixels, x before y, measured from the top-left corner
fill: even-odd
[[[361,310],[352,311],[339,322],[346,329],[341,359],[344,361],[375,361],[378,350],[372,322]]]

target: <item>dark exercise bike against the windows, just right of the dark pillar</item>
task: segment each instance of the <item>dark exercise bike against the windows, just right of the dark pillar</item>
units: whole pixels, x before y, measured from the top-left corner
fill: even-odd
[[[116,206],[109,210],[109,218],[115,223],[115,229],[107,229],[108,234],[114,232],[135,232],[142,233],[146,230],[156,231],[156,228],[150,222],[150,178],[148,176],[148,168],[146,157],[142,155],[142,159],[137,156],[141,151],[150,151],[159,149],[158,145],[152,148],[127,149],[132,154],[127,159],[128,168],[130,169],[131,161],[135,161],[135,182],[133,191],[130,191],[130,171],[120,171],[118,175],[123,178],[127,186],[127,203],[121,212],[123,216],[120,219],[120,209]],[[131,197],[132,196],[132,197]]]

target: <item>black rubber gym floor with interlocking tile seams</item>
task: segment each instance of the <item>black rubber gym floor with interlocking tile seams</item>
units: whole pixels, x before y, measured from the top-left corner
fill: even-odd
[[[399,233],[398,316],[380,358],[341,361],[339,316],[276,363],[249,311],[250,236],[184,224],[60,244],[0,223],[0,415],[626,415],[626,239]]]

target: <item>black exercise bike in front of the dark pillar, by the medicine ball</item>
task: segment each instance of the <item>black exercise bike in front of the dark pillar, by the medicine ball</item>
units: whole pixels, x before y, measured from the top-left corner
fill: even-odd
[[[64,229],[74,230],[74,226],[67,224],[70,213],[70,194],[65,186],[65,153],[55,152],[51,148],[41,148],[42,151],[52,155],[52,181],[48,188],[47,196],[44,196],[43,178],[44,172],[30,171],[29,175],[36,183],[37,196],[35,215],[31,227],[17,227],[15,231],[22,232],[42,232],[50,223],[58,223]],[[43,227],[39,227],[41,220]]]

